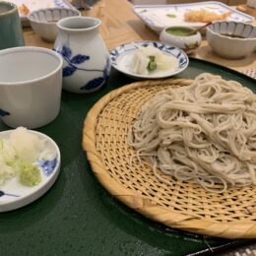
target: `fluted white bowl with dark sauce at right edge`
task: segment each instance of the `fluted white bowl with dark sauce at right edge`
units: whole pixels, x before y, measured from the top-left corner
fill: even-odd
[[[206,36],[214,52],[224,58],[243,58],[256,49],[256,27],[250,24],[215,22],[207,27]]]

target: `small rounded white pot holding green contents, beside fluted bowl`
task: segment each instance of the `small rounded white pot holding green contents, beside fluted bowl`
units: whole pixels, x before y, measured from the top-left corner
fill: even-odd
[[[177,35],[173,31],[186,30],[192,32],[194,29],[184,26],[168,27],[160,32],[160,41],[166,44],[176,46],[184,50],[187,54],[193,53],[201,44],[202,36],[200,32],[191,35]]]

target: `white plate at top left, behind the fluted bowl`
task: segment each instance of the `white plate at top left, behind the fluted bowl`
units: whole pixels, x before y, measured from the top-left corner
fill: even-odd
[[[70,4],[68,0],[9,0],[9,2],[17,5],[23,25],[27,25],[28,22],[27,15],[22,12],[23,5],[25,5],[30,12],[38,9],[55,7],[75,9],[75,7]]]

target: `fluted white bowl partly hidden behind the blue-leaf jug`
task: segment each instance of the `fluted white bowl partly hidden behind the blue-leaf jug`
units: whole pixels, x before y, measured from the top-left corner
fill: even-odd
[[[32,30],[46,41],[54,41],[57,35],[56,23],[67,17],[81,16],[76,9],[48,8],[33,11],[28,16]]]

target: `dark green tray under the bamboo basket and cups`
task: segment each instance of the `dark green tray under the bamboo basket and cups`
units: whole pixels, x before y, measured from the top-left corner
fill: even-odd
[[[176,78],[202,72],[236,80],[256,93],[256,81],[222,66],[190,59]],[[0,214],[0,255],[200,255],[250,244],[171,229],[154,223],[114,199],[101,187],[82,150],[89,109],[101,97],[134,80],[112,72],[107,85],[91,95],[63,92],[60,115],[38,131],[58,144],[60,175],[41,198]],[[0,131],[9,129],[0,122]]]

